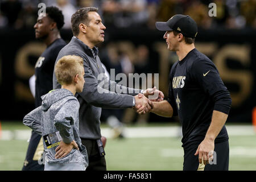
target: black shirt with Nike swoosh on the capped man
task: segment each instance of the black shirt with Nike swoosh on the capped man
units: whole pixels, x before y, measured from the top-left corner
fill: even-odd
[[[204,140],[213,110],[228,114],[232,101],[213,62],[195,48],[172,66],[168,102],[174,115],[179,115],[181,142],[183,147],[188,147]],[[224,126],[215,143],[225,140],[228,133]]]

